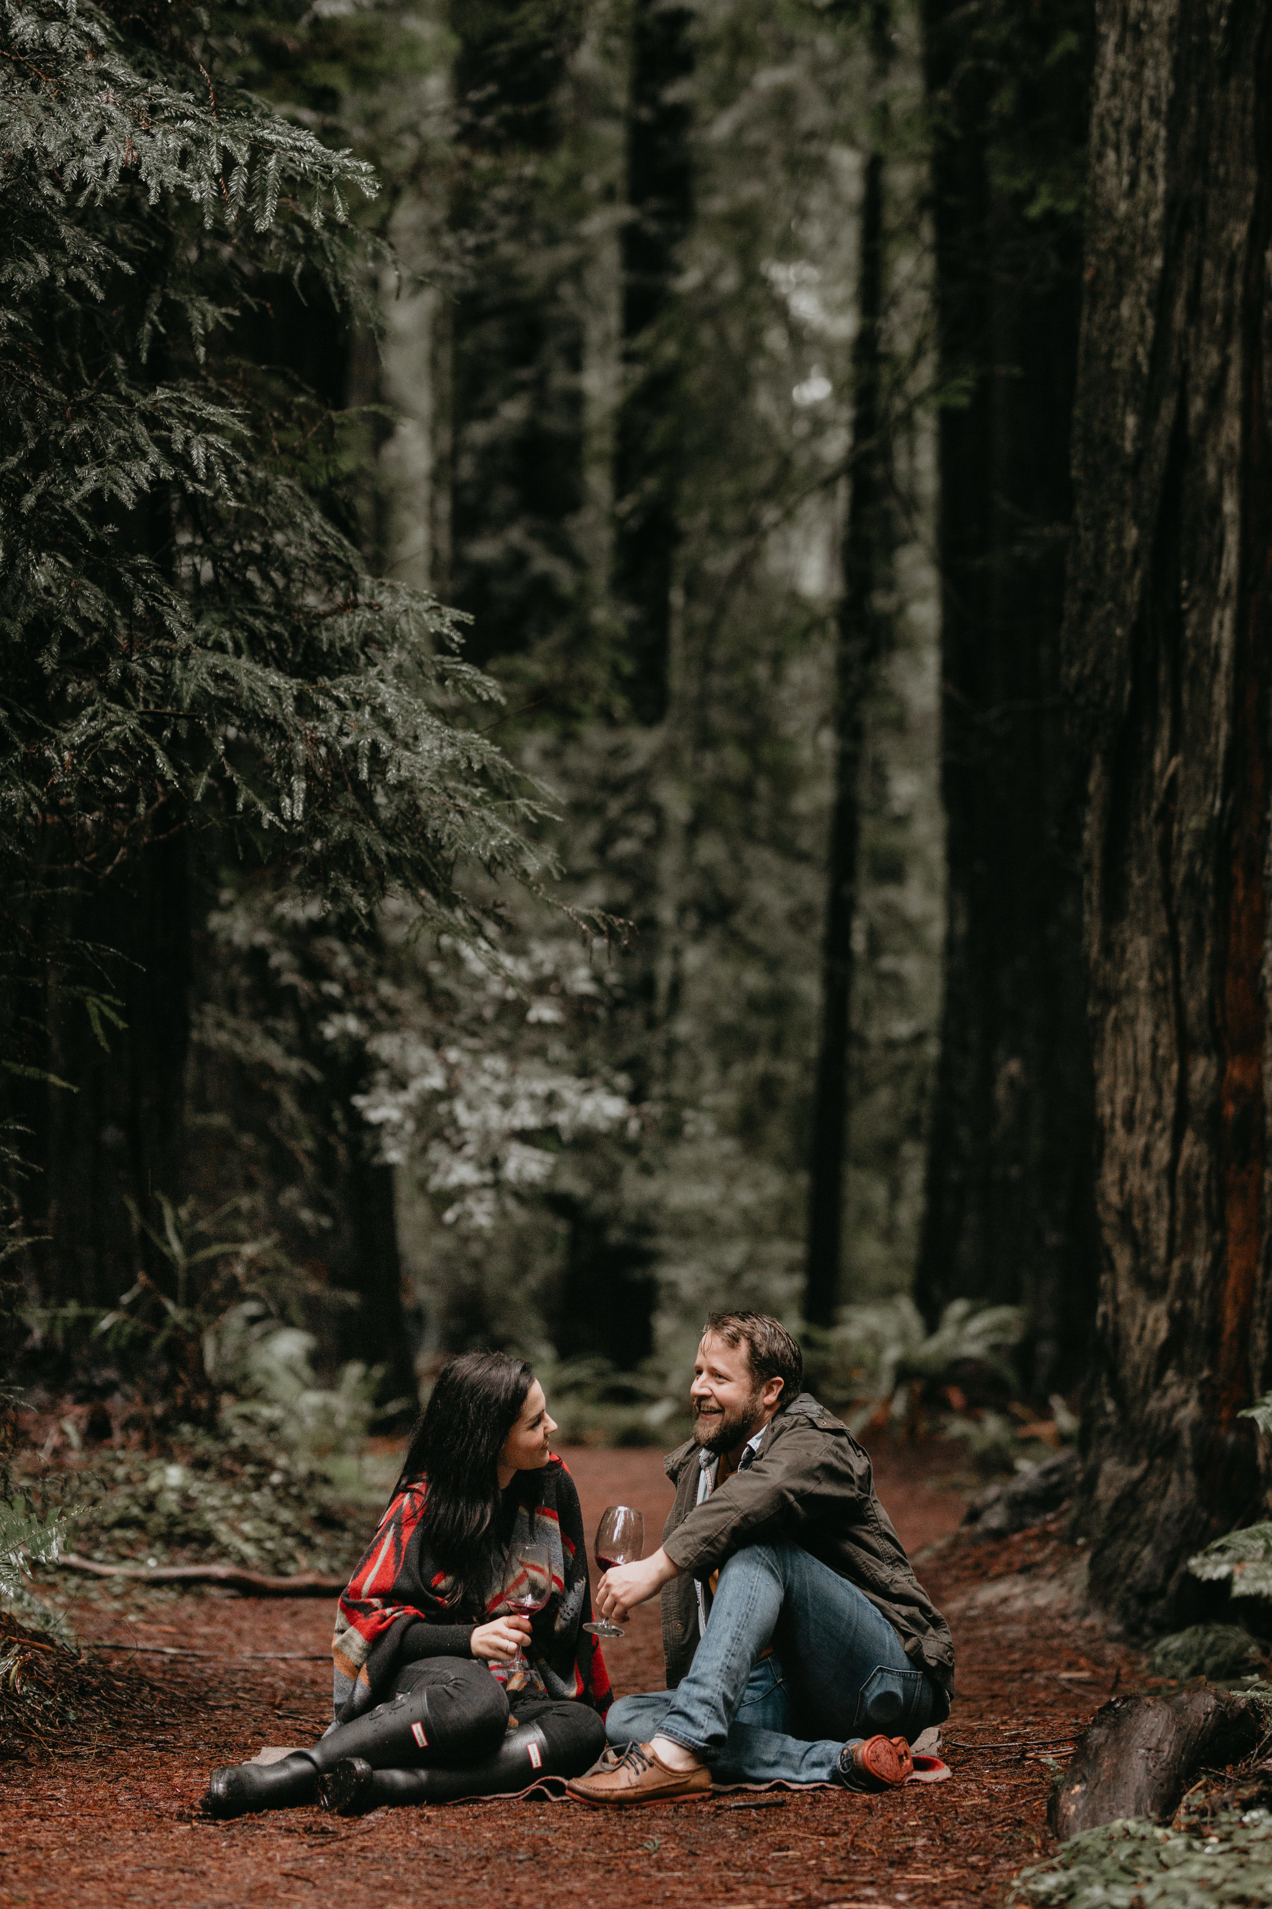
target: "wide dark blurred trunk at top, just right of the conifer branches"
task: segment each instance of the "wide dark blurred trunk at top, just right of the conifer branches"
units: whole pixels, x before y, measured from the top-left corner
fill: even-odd
[[[580,214],[568,76],[580,0],[458,0],[450,246],[450,596],[479,662],[585,643]],[[564,683],[557,693],[568,699]]]

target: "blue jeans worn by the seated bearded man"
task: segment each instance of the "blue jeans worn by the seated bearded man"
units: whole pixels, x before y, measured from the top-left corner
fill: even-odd
[[[931,1710],[927,1676],[856,1584],[797,1544],[748,1544],[679,1688],[620,1697],[605,1730],[612,1745],[671,1737],[717,1783],[828,1783],[845,1743],[913,1743]]]

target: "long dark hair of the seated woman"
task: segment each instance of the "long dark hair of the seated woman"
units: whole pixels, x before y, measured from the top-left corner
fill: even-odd
[[[481,1607],[498,1529],[498,1458],[534,1382],[507,1352],[465,1352],[437,1374],[410,1436],[395,1497],[427,1478],[420,1520],[425,1556],[458,1581],[460,1604]]]

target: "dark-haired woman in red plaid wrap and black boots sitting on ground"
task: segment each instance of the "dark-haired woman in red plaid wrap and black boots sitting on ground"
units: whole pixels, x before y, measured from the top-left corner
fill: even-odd
[[[206,1815],[488,1796],[601,1756],[610,1680],[582,1628],[587,1544],[555,1430],[524,1361],[471,1352],[446,1365],[339,1600],[332,1728],[277,1764],[214,1770]],[[524,1544],[551,1558],[534,1619],[505,1605]]]

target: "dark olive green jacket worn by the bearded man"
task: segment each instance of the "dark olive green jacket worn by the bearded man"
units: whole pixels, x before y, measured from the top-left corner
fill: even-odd
[[[662,1548],[681,1567],[662,1588],[662,1647],[675,1689],[698,1649],[694,1579],[717,1571],[746,1544],[801,1544],[864,1590],[902,1640],[915,1670],[938,1689],[954,1682],[950,1626],[910,1569],[879,1504],[872,1464],[845,1424],[801,1392],[765,1426],[755,1457],[698,1504],[698,1447],[666,1460],[675,1485]]]

